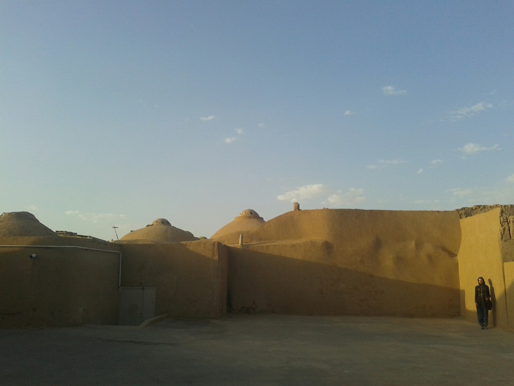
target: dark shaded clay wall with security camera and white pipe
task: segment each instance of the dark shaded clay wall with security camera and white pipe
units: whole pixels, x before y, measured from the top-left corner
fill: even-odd
[[[31,245],[0,247],[0,327],[117,324],[119,253],[91,250],[117,247],[62,237],[3,237],[0,244]],[[77,244],[91,249],[59,248]]]

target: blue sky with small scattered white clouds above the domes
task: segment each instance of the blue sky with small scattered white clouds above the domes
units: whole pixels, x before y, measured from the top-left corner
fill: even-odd
[[[514,204],[511,1],[0,1],[0,213]]]

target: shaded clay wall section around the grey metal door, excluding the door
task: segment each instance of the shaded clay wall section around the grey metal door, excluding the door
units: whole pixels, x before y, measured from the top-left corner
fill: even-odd
[[[219,318],[226,312],[227,248],[215,241],[120,244],[121,285],[155,287],[156,315]]]

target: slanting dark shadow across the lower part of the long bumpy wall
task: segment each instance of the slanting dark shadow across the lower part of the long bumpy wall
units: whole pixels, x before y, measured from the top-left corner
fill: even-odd
[[[460,316],[460,290],[230,248],[228,309],[305,315]]]

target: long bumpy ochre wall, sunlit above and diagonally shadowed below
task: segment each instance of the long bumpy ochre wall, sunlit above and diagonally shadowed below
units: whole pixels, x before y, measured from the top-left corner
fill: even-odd
[[[235,244],[238,235],[221,238]],[[460,314],[456,212],[289,212],[229,252],[229,306],[242,312]]]

